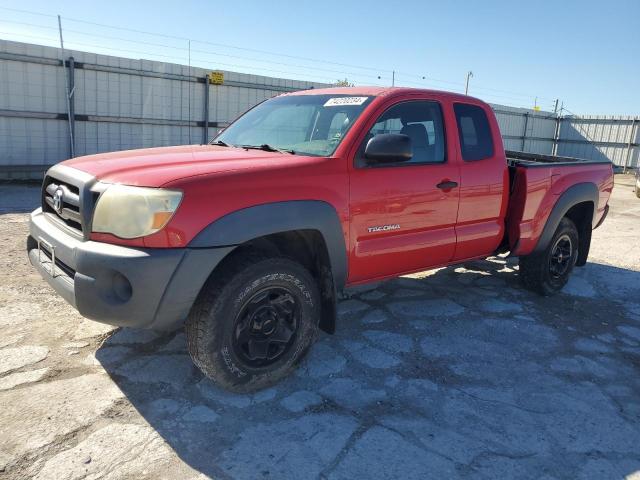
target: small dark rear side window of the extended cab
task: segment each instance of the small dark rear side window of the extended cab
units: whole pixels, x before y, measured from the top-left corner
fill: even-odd
[[[453,106],[458,124],[460,149],[465,161],[493,156],[493,137],[484,109],[476,105],[456,103]]]

